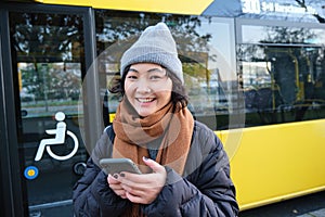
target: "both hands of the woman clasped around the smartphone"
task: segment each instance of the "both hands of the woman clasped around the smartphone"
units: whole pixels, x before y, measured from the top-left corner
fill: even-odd
[[[167,173],[164,166],[153,159],[143,157],[143,162],[153,169],[152,174],[125,171],[119,176],[108,176],[107,180],[113,191],[122,199],[132,203],[151,204],[164,188]]]

